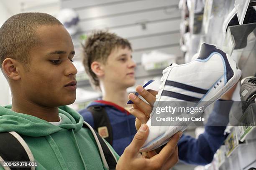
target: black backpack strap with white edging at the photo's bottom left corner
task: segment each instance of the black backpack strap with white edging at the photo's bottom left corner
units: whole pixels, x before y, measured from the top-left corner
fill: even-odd
[[[35,159],[28,145],[16,132],[0,133],[0,161],[34,162]],[[19,168],[3,167],[5,170],[18,170]],[[36,167],[22,168],[23,170],[36,170]]]

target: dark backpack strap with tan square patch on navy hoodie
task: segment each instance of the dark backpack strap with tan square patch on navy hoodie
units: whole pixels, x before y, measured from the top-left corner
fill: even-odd
[[[87,108],[92,113],[94,129],[105,140],[113,145],[113,131],[106,109],[101,105],[93,105]]]

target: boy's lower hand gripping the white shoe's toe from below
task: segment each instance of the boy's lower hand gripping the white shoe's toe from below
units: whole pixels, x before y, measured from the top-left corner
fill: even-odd
[[[148,137],[148,126],[142,124],[133,141],[125,148],[123,155],[118,160],[116,170],[169,170],[179,160],[177,143],[181,134],[178,132],[173,135],[159,154],[150,151],[146,158],[139,153]]]

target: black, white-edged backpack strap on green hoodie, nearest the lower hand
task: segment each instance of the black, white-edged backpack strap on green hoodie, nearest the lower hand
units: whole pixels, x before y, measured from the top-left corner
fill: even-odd
[[[94,130],[87,122],[84,121],[84,128],[89,128],[92,132],[92,135],[95,138],[95,141],[97,143],[97,146],[100,151],[100,157],[102,159],[102,162],[108,170],[115,170],[117,159],[115,158],[114,153],[112,150],[108,147],[107,143],[100,137],[100,135]]]

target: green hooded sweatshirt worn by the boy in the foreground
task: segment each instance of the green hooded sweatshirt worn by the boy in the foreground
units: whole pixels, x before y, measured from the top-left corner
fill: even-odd
[[[0,106],[0,133],[15,131],[26,141],[37,162],[36,170],[106,170],[91,131],[82,128],[83,117],[67,106],[59,107],[59,116],[62,122],[56,126],[13,112],[11,105]]]

